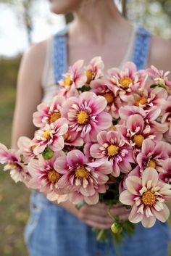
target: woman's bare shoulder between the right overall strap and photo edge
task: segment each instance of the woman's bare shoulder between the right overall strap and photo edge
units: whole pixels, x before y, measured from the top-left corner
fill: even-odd
[[[161,70],[171,70],[171,41],[159,36],[151,36],[151,49],[148,66],[154,65]]]

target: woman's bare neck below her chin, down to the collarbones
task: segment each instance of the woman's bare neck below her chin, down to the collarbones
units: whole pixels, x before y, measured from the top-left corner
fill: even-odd
[[[120,15],[113,0],[81,1],[75,11],[75,20],[70,25],[70,36],[78,37],[78,41],[93,44],[104,44],[109,34],[116,34],[120,28],[130,25]]]

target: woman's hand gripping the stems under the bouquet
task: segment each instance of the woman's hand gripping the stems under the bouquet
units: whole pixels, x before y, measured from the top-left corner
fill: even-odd
[[[80,210],[71,202],[63,202],[60,205],[83,223],[93,228],[109,229],[113,223],[112,218],[109,217],[109,207],[104,203],[99,202],[96,205],[83,205]],[[110,209],[110,213],[113,216],[119,215],[120,220],[128,220],[130,210],[126,210],[124,206],[118,204]]]

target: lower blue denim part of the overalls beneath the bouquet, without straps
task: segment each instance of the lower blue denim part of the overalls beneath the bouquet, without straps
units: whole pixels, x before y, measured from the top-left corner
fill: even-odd
[[[34,192],[31,217],[25,228],[25,242],[30,256],[117,256],[112,237],[96,241],[91,228]],[[169,227],[157,223],[153,228],[137,225],[132,238],[125,236],[120,245],[122,256],[167,256]]]

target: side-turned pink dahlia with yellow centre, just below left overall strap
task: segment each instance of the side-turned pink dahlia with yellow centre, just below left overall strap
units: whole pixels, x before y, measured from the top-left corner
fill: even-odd
[[[59,86],[63,96],[77,96],[77,88],[85,85],[87,77],[80,73],[82,66],[83,60],[78,60],[70,67],[68,73],[64,75],[64,79],[59,80]]]

